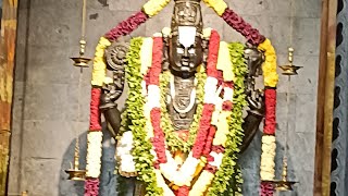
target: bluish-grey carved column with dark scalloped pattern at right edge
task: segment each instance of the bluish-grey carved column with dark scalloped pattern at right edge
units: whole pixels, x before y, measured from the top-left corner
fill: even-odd
[[[338,0],[331,196],[348,195],[348,0]]]

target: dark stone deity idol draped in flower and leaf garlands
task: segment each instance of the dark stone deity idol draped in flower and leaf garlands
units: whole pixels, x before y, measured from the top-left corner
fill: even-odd
[[[103,82],[92,84],[101,93],[97,105],[117,139],[117,171],[142,181],[140,195],[220,195],[222,187],[240,193],[235,162],[265,113],[264,93],[256,89],[254,79],[262,75],[265,54],[258,44],[265,39],[254,36],[258,32],[233,11],[211,3],[232,27],[244,27],[237,30],[248,38],[246,46],[220,41],[215,30],[203,28],[200,0],[174,1],[171,28],[127,42],[119,38],[126,35],[119,30],[122,25],[127,28],[121,23],[107,34],[104,53],[96,52],[107,70]],[[129,17],[128,28],[156,14],[156,9],[147,11],[149,7]],[[95,60],[95,75],[98,63]],[[116,101],[125,85],[128,97],[122,113]],[[226,181],[231,189],[224,187]],[[86,189],[91,184],[87,182]]]

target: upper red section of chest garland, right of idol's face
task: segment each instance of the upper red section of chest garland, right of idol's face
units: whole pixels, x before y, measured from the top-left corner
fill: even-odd
[[[212,30],[209,40],[209,53],[207,63],[207,75],[217,78],[219,72],[216,70],[217,57],[220,48],[220,35],[216,30]]]

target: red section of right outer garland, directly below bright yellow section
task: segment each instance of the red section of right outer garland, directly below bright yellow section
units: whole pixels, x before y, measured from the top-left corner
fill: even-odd
[[[265,89],[265,118],[263,133],[268,135],[275,134],[275,107],[276,107],[276,90],[274,88]]]

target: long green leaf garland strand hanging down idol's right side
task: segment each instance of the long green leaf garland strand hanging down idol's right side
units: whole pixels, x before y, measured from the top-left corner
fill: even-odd
[[[221,168],[217,170],[212,186],[209,188],[208,196],[223,195],[226,191],[235,195],[241,195],[240,185],[243,177],[240,170],[237,169],[239,145],[243,142],[244,131],[241,124],[243,109],[248,105],[245,95],[244,76],[248,72],[244,59],[244,46],[238,42],[229,44],[229,54],[233,61],[233,72],[236,76],[234,84],[233,112],[228,119],[229,134],[226,143],[224,158]],[[233,177],[233,179],[232,179]],[[235,184],[228,189],[228,182]]]

